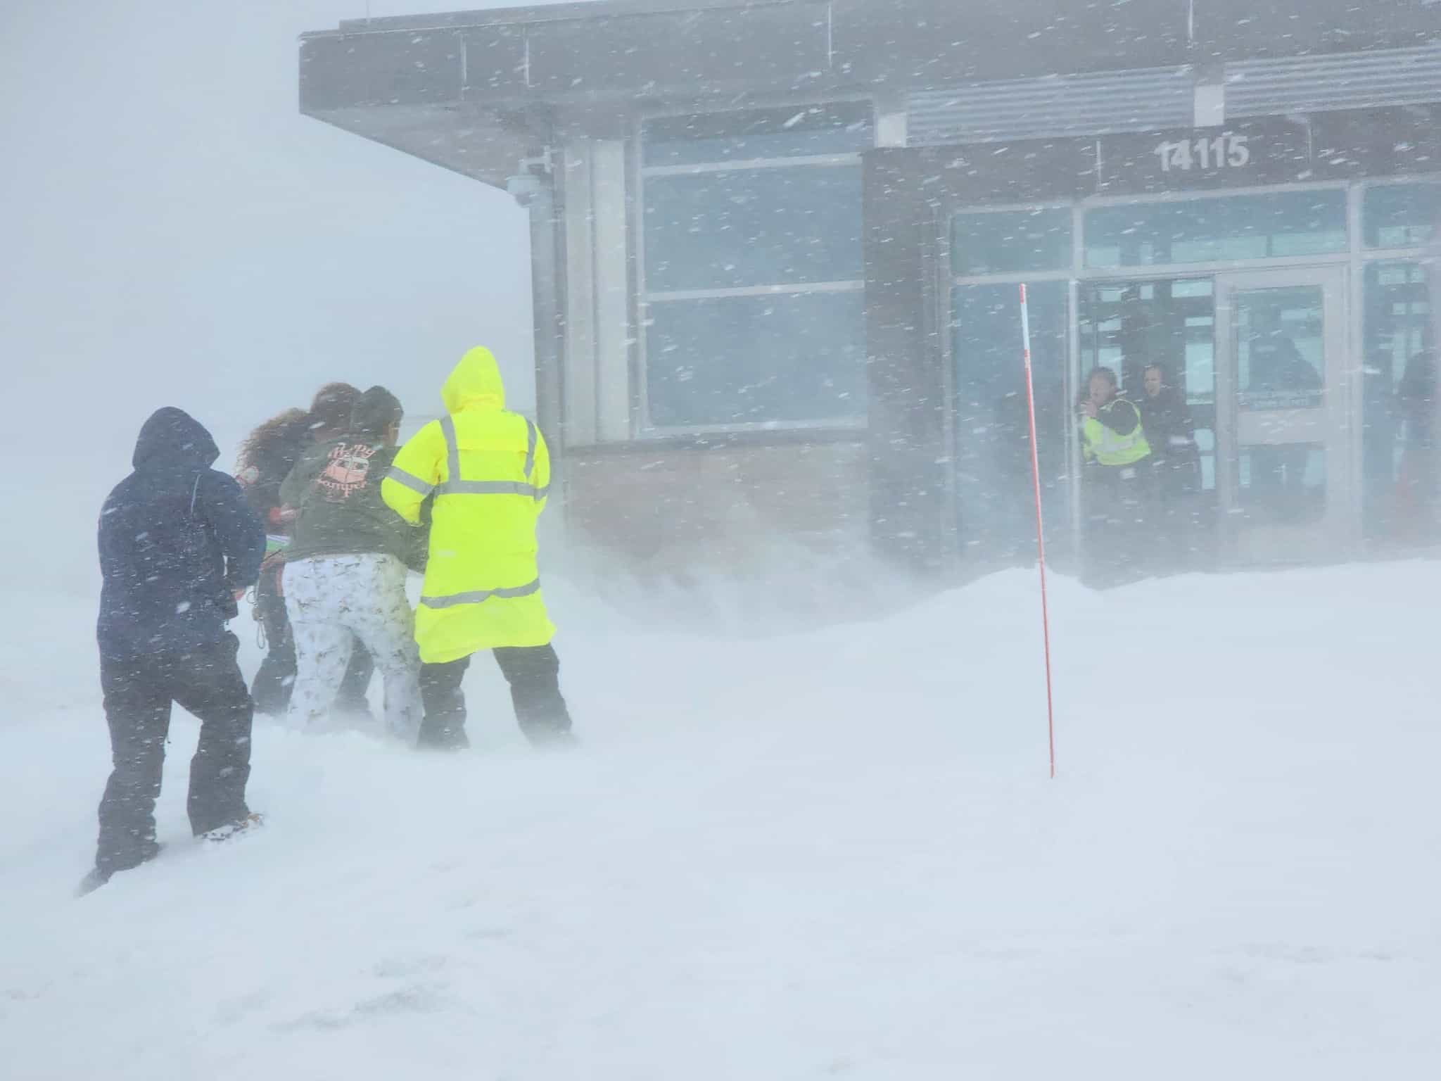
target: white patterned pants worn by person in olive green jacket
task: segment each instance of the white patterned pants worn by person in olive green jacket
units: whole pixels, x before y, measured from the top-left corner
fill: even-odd
[[[290,724],[308,728],[330,712],[359,639],[385,677],[385,722],[414,739],[421,724],[421,656],[393,555],[327,555],[285,565],[285,611],[295,636]]]

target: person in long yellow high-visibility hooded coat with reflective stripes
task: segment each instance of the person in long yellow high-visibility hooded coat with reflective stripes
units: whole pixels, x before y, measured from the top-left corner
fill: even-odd
[[[380,497],[411,525],[431,506],[425,585],[415,611],[425,719],[418,744],[463,748],[470,657],[491,650],[532,744],[568,744],[555,624],[540,597],[536,520],[550,487],[550,454],[533,422],[506,409],[488,349],[467,352],[441,389],[445,417],[395,455]]]

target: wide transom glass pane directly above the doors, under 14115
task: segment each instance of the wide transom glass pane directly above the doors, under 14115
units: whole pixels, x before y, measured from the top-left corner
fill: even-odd
[[[1101,206],[1085,216],[1088,267],[1229,262],[1342,251],[1346,251],[1344,192]]]

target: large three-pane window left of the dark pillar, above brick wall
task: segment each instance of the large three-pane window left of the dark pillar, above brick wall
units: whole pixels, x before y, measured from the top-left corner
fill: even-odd
[[[860,151],[870,144],[865,104],[643,125],[653,427],[865,418]]]

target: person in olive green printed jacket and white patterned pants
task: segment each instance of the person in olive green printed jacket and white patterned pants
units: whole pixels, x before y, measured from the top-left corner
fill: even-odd
[[[288,719],[308,728],[334,702],[359,640],[385,677],[391,732],[419,728],[419,653],[405,595],[406,566],[424,566],[424,535],[380,502],[395,460],[401,402],[383,386],[356,401],[350,430],[310,447],[281,484],[294,510],[287,549],[285,610],[295,636]]]

